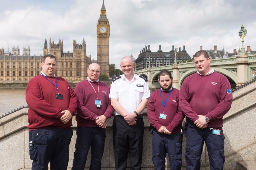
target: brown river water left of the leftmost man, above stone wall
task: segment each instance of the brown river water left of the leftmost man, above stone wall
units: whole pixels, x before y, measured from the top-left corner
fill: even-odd
[[[13,90],[12,88],[0,88],[0,116],[4,113],[11,112],[11,110],[17,110],[22,105],[26,106],[25,92],[25,88],[16,88]]]

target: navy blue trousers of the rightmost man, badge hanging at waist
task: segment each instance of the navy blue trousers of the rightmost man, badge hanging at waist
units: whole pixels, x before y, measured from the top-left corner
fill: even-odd
[[[214,129],[214,128],[213,128]],[[189,121],[186,131],[186,165],[187,170],[199,170],[204,142],[207,147],[211,170],[223,170],[224,156],[224,134],[222,127],[221,135],[213,135],[209,127],[199,129],[193,122]]]

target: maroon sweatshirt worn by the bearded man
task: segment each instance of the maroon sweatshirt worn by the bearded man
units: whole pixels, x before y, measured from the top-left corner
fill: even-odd
[[[173,88],[167,102],[166,99],[170,91],[162,91],[163,104],[166,102],[166,105],[164,107],[164,114],[166,114],[166,119],[160,118],[160,113],[163,113],[163,105],[160,91],[161,89],[154,91],[149,97],[149,122],[157,130],[159,130],[161,126],[165,126],[166,129],[169,130],[171,133],[178,133],[180,132],[181,122],[185,117],[179,107],[179,90]]]

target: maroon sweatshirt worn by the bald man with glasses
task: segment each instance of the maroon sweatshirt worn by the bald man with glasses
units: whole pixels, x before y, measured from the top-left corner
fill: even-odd
[[[90,85],[93,85],[93,87]],[[83,80],[77,83],[75,88],[77,98],[77,126],[98,127],[95,119],[97,116],[105,115],[111,117],[114,109],[111,106],[111,101],[108,99],[110,88],[103,82],[88,82]],[[102,101],[102,107],[96,108],[95,100],[97,100],[96,93],[98,93],[99,86],[99,100]],[[93,90],[95,89],[95,91]]]

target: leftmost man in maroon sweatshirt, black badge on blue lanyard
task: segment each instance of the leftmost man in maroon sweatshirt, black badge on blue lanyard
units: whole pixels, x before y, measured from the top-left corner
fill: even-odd
[[[67,170],[76,96],[65,79],[55,76],[53,55],[45,55],[41,67],[26,88],[32,170],[48,170],[49,162],[51,170]]]

